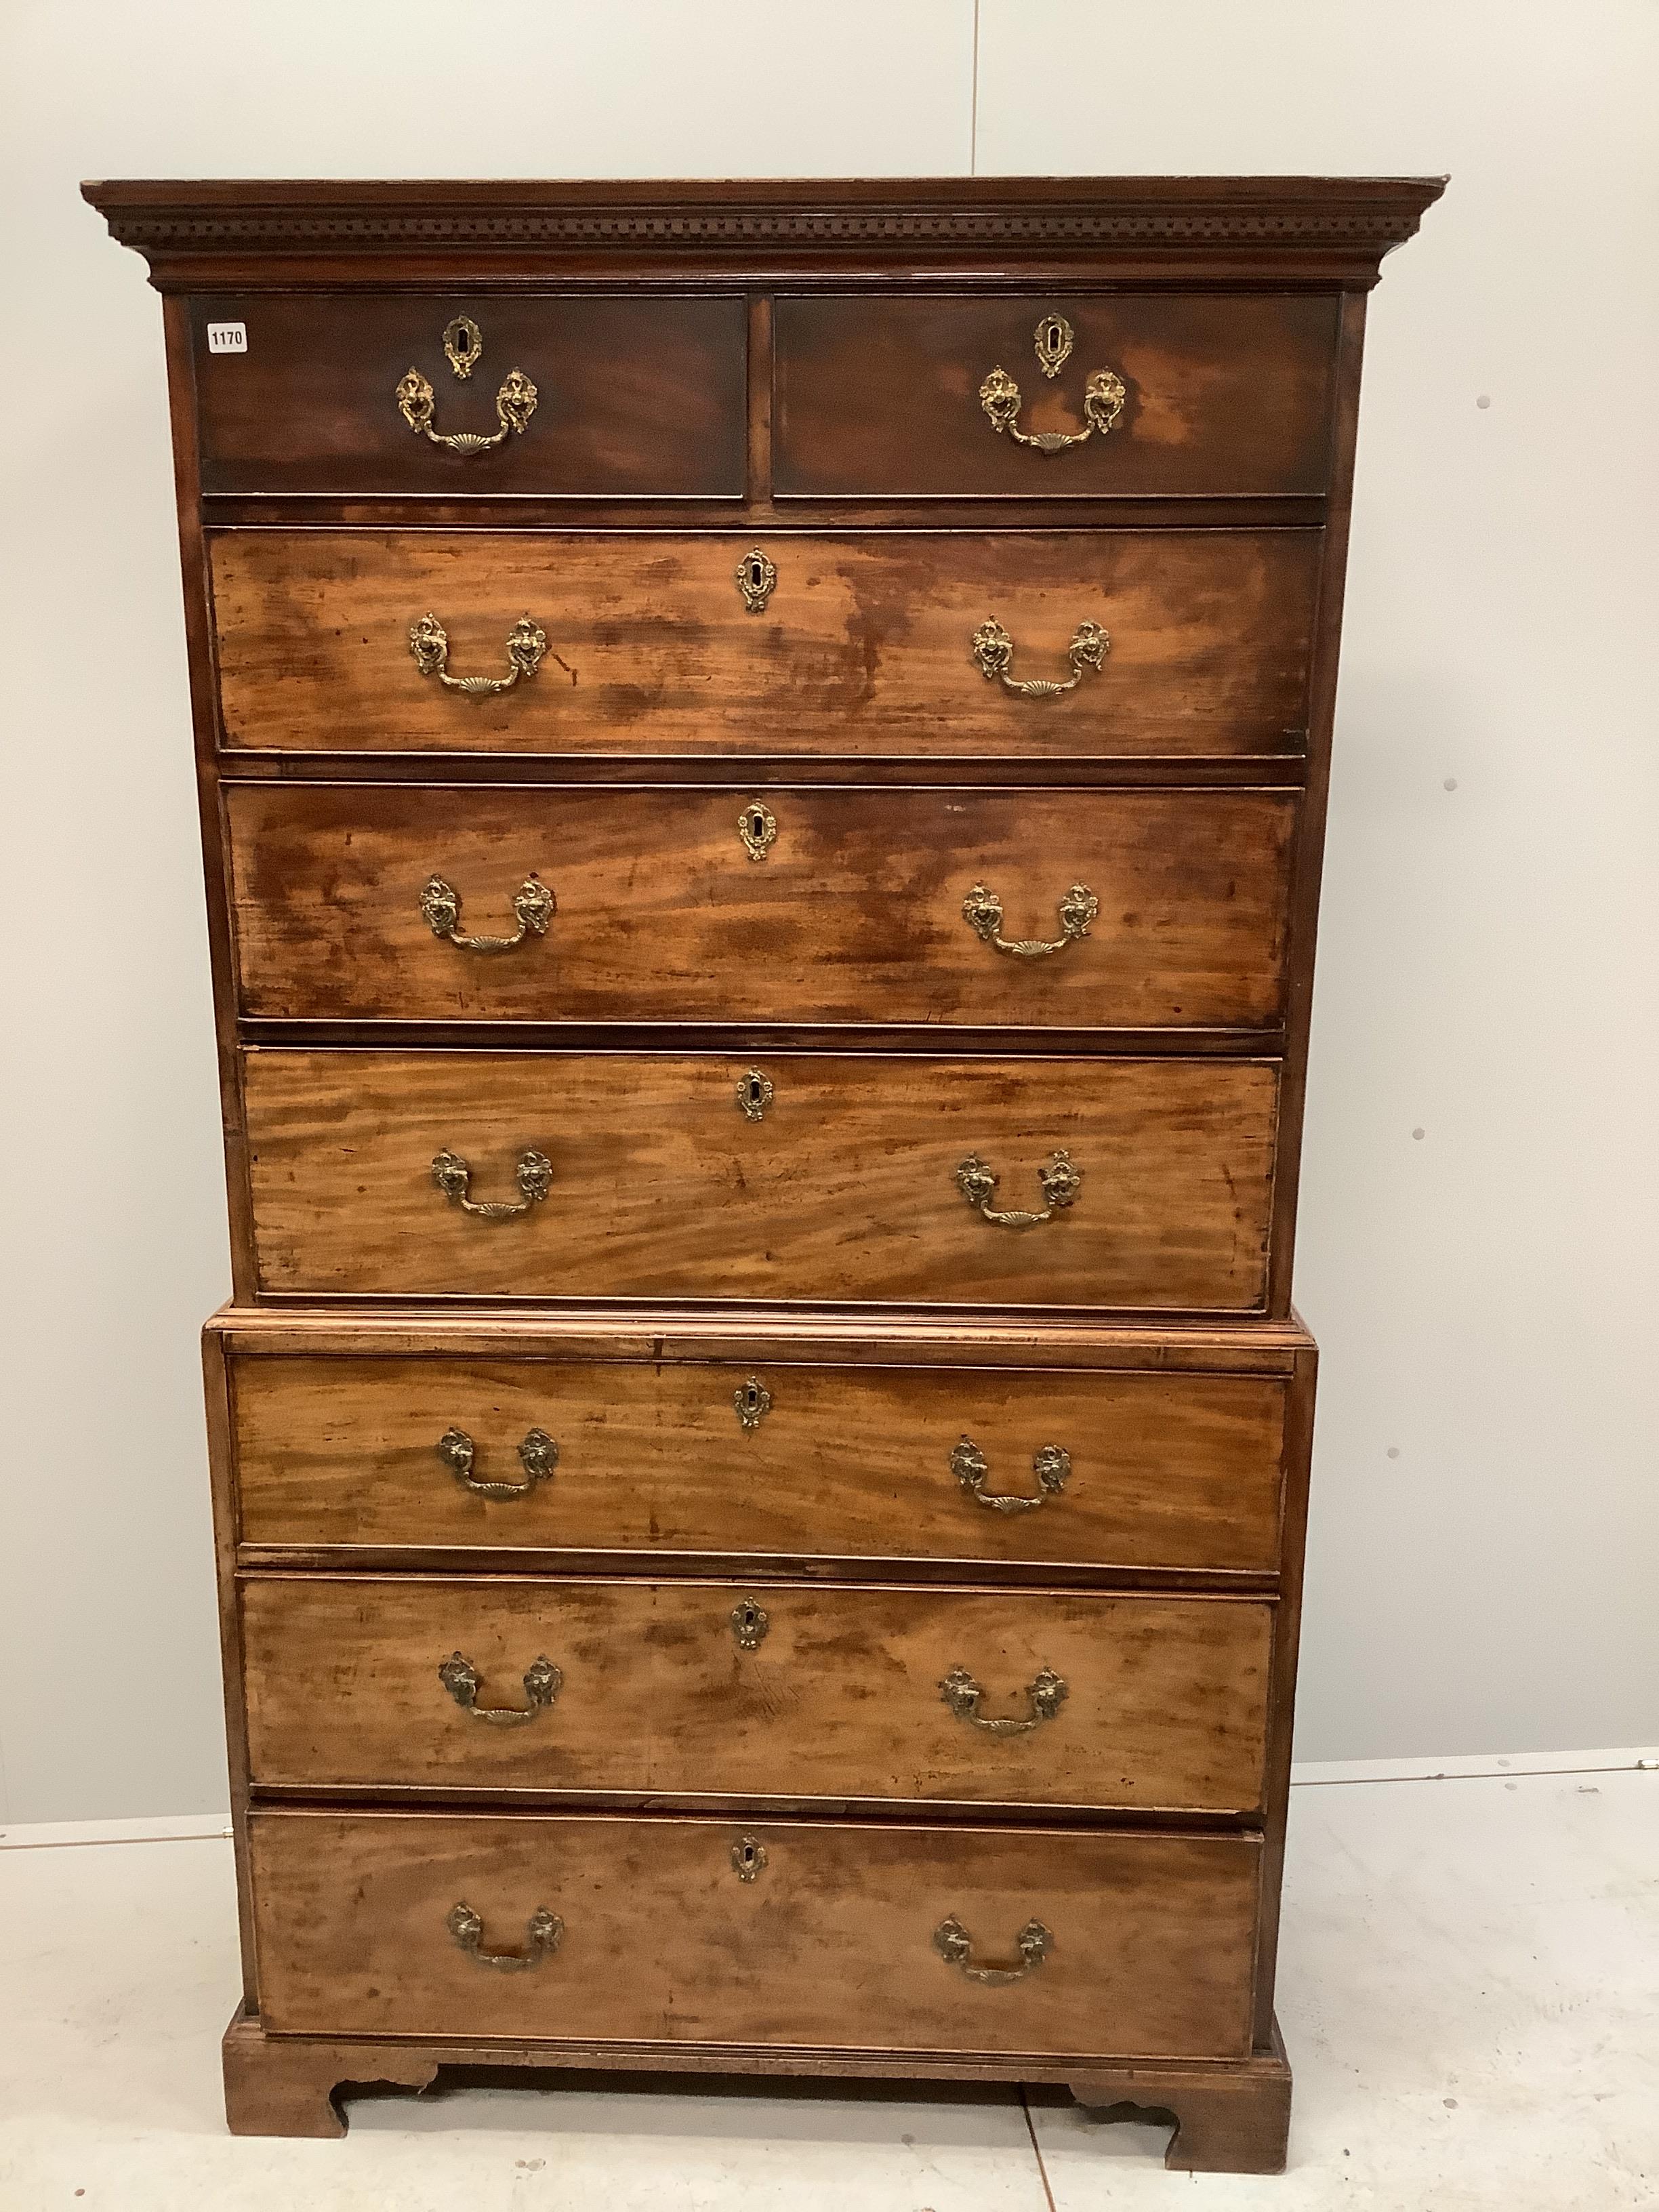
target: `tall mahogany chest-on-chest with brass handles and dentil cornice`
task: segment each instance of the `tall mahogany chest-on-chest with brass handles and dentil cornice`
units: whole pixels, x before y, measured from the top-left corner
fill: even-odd
[[[86,188],[166,294],[232,2128],[907,2075],[1283,2163],[1325,763],[1438,190]]]

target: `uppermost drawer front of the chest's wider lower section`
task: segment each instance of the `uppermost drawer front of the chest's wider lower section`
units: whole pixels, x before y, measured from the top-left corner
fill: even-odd
[[[1279,1564],[1279,1376],[261,1356],[232,1418],[246,1544]]]

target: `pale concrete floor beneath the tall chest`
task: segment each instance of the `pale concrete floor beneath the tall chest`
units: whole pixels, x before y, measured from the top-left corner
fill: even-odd
[[[230,1847],[62,1834],[0,1834],[4,2212],[1659,2208],[1659,1772],[1296,1790],[1279,2179],[1166,2174],[1161,2128],[1037,2093],[841,2084],[365,2097],[343,2143],[234,2141]]]

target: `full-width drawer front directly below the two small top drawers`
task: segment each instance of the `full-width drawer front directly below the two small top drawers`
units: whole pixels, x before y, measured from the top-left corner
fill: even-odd
[[[420,458],[420,456],[414,456]],[[504,467],[504,462],[502,462]],[[228,745],[299,752],[1239,754],[1301,750],[1316,531],[223,531]],[[750,611],[739,560],[776,582]],[[409,633],[431,615],[442,670]],[[513,626],[544,637],[511,675]],[[1011,644],[1011,690],[973,655]],[[1084,622],[1106,630],[1071,659]],[[422,633],[425,635],[425,633]]]

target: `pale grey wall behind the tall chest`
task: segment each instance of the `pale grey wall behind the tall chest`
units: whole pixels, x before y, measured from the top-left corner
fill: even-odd
[[[0,1818],[223,1798],[161,327],[88,175],[1451,170],[1360,425],[1298,1747],[1659,1736],[1655,7],[980,0],[975,55],[973,0],[13,0],[7,38]]]

